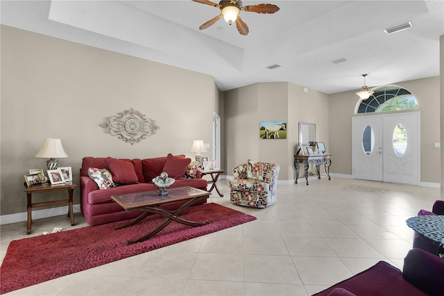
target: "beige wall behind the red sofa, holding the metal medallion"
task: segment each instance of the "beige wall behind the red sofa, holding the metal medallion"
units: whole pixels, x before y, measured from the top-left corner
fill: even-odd
[[[105,133],[105,117],[128,108],[155,120],[157,133],[134,145]],[[212,143],[213,111],[211,76],[1,26],[1,215],[26,212],[24,174],[46,170],[34,157],[44,138],[62,139],[69,157],[59,165],[78,183],[84,156],[194,158],[193,140]]]

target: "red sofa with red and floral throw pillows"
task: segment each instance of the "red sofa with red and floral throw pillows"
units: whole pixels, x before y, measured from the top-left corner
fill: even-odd
[[[200,172],[195,166],[189,165],[190,158],[185,155],[146,159],[117,159],[111,157],[85,157],[80,168],[80,208],[87,223],[91,226],[117,222],[137,217],[141,212],[126,212],[119,204],[112,201],[112,195],[124,195],[127,193],[157,190],[152,179],[161,172],[167,172],[176,181],[173,187],[191,186],[201,190],[207,190],[207,181],[200,178]],[[89,176],[92,170],[108,170],[112,174],[114,187],[99,189],[98,183]],[[89,171],[89,174],[88,174]],[[107,172],[109,174],[109,172]],[[162,208],[173,210],[187,202],[171,202],[164,204]],[[203,204],[202,199],[197,204]]]

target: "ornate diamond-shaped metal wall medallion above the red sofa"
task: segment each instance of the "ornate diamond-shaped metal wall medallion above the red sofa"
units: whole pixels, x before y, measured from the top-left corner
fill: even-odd
[[[131,145],[144,140],[147,136],[155,135],[155,131],[160,129],[160,126],[155,124],[155,120],[145,118],[145,115],[133,108],[106,117],[105,120],[100,125],[105,129],[105,133],[117,135],[119,139]]]

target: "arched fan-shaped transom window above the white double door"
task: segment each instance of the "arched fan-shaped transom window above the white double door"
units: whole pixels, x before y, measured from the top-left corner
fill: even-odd
[[[359,103],[358,114],[418,109],[416,97],[398,85],[382,85],[372,90],[374,93]]]

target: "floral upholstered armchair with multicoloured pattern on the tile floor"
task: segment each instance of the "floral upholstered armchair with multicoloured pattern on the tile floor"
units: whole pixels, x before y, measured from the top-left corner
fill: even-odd
[[[276,202],[279,165],[250,161],[234,167],[230,181],[232,204],[266,208]]]

